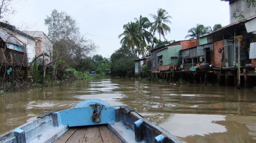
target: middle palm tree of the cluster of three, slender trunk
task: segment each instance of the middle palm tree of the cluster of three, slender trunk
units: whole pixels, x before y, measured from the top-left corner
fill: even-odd
[[[151,26],[150,21],[147,17],[139,16],[139,19],[134,18],[136,24],[139,25],[139,34],[141,35],[140,47],[137,47],[138,54],[141,54],[143,57],[147,54],[147,43],[149,44],[152,40],[153,35],[148,32],[146,29]],[[146,43],[147,41],[147,43]]]

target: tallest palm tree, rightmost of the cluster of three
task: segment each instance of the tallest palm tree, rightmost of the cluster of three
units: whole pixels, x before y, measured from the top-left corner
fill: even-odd
[[[150,14],[150,16],[155,20],[152,22],[150,31],[153,32],[153,34],[155,34],[157,31],[159,33],[159,40],[161,40],[161,35],[164,38],[167,32],[171,32],[171,28],[165,23],[171,24],[169,18],[172,17],[168,15],[168,12],[165,9],[161,8],[158,8],[157,14]]]

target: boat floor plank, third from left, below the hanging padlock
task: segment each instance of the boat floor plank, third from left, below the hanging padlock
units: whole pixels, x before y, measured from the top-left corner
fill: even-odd
[[[103,143],[98,126],[87,128],[83,143]]]

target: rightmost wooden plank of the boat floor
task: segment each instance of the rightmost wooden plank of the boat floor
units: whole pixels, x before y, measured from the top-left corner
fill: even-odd
[[[107,126],[99,126],[99,129],[103,143],[122,143],[121,139],[109,130]]]

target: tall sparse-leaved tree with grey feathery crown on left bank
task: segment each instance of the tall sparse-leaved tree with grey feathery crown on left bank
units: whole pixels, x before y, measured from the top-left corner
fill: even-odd
[[[58,73],[58,60],[63,59],[67,65],[76,68],[78,61],[98,48],[92,40],[84,38],[85,35],[80,33],[76,20],[65,12],[54,9],[50,16],[46,16],[45,25],[48,26],[48,37],[54,43],[54,78]]]

